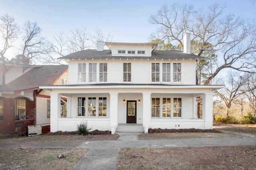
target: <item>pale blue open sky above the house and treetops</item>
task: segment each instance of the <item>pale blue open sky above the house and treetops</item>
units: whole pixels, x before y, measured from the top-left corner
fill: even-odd
[[[95,27],[107,34],[111,32],[115,42],[148,42],[156,25],[148,23],[163,4],[173,0],[0,0],[0,16],[9,14],[22,26],[26,20],[36,21],[49,39],[55,33],[86,27]],[[250,0],[179,0],[196,8],[207,7],[214,2],[226,3],[226,12],[235,16],[256,18],[256,5]]]

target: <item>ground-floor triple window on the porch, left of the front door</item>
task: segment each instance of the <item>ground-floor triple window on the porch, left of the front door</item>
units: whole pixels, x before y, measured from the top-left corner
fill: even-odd
[[[85,117],[106,117],[106,97],[78,97],[78,116]]]

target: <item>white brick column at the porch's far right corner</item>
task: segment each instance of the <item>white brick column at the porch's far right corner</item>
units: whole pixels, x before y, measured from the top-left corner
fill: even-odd
[[[213,114],[213,94],[203,94],[203,119],[205,120],[204,129],[212,129]]]

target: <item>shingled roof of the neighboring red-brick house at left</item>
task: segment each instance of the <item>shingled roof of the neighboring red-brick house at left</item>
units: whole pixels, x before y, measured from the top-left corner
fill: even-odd
[[[5,86],[0,86],[0,92],[14,92],[38,88],[39,86],[49,86],[67,68],[68,65],[44,65],[35,67]]]

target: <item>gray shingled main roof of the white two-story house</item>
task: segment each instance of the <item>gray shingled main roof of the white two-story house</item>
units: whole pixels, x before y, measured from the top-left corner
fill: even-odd
[[[59,59],[100,59],[100,58],[118,58],[118,59],[202,59],[198,55],[186,54],[182,51],[171,50],[171,51],[153,51],[151,57],[144,56],[112,56],[110,50],[95,51],[92,49],[78,51],[71,53]]]

